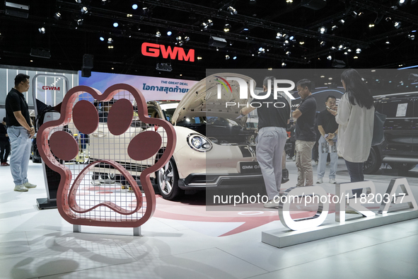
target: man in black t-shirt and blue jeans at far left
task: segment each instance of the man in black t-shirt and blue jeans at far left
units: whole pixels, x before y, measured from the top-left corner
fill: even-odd
[[[6,96],[7,134],[13,151],[10,157],[10,171],[15,183],[14,190],[18,192],[27,192],[28,188],[36,187],[28,181],[30,139],[35,135],[28,103],[23,96],[23,92],[28,89],[29,76],[18,74],[15,77],[15,86]]]

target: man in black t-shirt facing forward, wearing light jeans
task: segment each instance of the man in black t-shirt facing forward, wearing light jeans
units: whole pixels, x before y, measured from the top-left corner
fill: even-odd
[[[330,154],[331,169],[330,169],[330,183],[335,184],[335,173],[337,172],[337,133],[338,124],[335,122],[335,115],[337,112],[332,110],[335,107],[336,98],[334,96],[328,96],[325,101],[325,110],[321,111],[318,115],[318,130],[321,137],[318,142],[318,181],[316,183],[323,183],[323,177],[325,175],[327,154]]]

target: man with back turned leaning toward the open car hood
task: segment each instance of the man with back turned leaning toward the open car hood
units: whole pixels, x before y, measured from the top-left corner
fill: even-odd
[[[279,206],[279,191],[281,185],[281,160],[286,144],[286,127],[289,124],[289,102],[273,93],[274,76],[267,76],[263,81],[263,91],[270,93],[268,98],[253,99],[251,106],[243,108],[241,114],[246,115],[257,108],[258,136],[256,140],[257,161],[260,164],[268,202],[265,207]]]

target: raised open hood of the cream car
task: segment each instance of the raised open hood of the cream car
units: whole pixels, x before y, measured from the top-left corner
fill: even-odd
[[[227,81],[227,77],[238,77],[247,84],[246,98],[240,99],[240,86],[238,81]],[[221,79],[222,78],[222,79]],[[247,117],[236,119],[240,109],[250,100],[250,81],[252,91],[255,89],[255,81],[249,76],[232,73],[219,73],[207,76],[195,84],[178,104],[173,114],[172,122],[177,123],[188,117],[217,116],[220,118],[233,119],[245,127]],[[229,84],[229,86],[228,86]],[[221,98],[218,99],[218,85],[221,88]],[[234,106],[226,107],[226,102],[236,103]],[[238,103],[240,106],[238,106]]]

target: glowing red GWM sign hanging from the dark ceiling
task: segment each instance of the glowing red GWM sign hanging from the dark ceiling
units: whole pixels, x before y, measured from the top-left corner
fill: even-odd
[[[163,58],[168,58],[170,56],[171,59],[195,62],[195,50],[190,49],[186,55],[185,49],[182,47],[173,47],[172,49],[170,46],[166,47],[165,45],[144,42],[141,46],[141,52],[142,55],[150,57],[158,57],[161,53]]]

